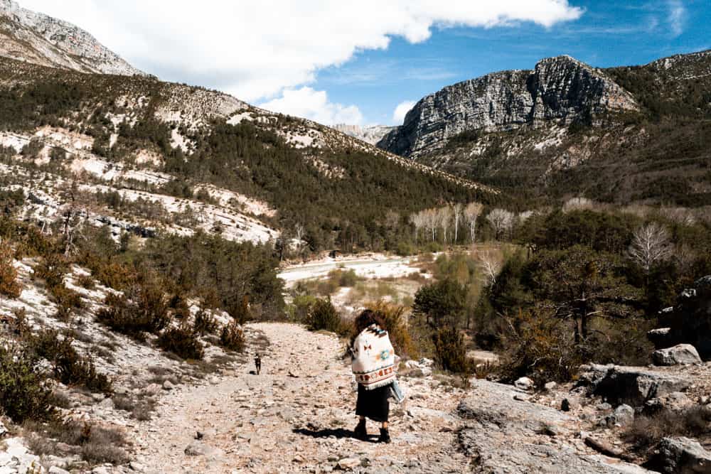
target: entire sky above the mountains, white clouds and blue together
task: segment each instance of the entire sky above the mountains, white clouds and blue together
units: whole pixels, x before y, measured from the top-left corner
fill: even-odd
[[[711,48],[708,0],[18,0],[162,80],[323,124],[567,54],[605,68]]]

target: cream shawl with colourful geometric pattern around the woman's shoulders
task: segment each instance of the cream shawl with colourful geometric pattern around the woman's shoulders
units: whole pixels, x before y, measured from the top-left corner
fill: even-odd
[[[395,350],[387,331],[372,324],[353,342],[353,375],[366,390],[383,387],[395,379]]]

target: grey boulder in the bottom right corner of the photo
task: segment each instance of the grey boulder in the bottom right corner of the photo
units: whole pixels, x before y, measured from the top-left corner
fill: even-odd
[[[663,438],[646,467],[662,473],[711,473],[711,453],[689,438]]]

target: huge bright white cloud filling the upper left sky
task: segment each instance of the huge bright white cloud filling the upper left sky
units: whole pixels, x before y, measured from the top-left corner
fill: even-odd
[[[19,1],[87,29],[146,72],[250,101],[313,82],[392,36],[419,43],[433,27],[548,27],[582,14],[568,0]]]

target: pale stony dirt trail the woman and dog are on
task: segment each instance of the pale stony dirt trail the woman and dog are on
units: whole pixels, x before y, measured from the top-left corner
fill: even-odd
[[[463,392],[431,377],[404,379],[410,399],[391,406],[393,443],[351,438],[355,394],[333,335],[297,325],[251,325],[269,339],[262,374],[252,365],[161,398],[153,420],[134,428],[137,461],[151,473],[463,472],[451,413]],[[196,433],[203,438],[196,441]],[[378,426],[368,424],[373,438]],[[188,448],[189,446],[189,448]],[[186,453],[195,452],[197,455]]]

